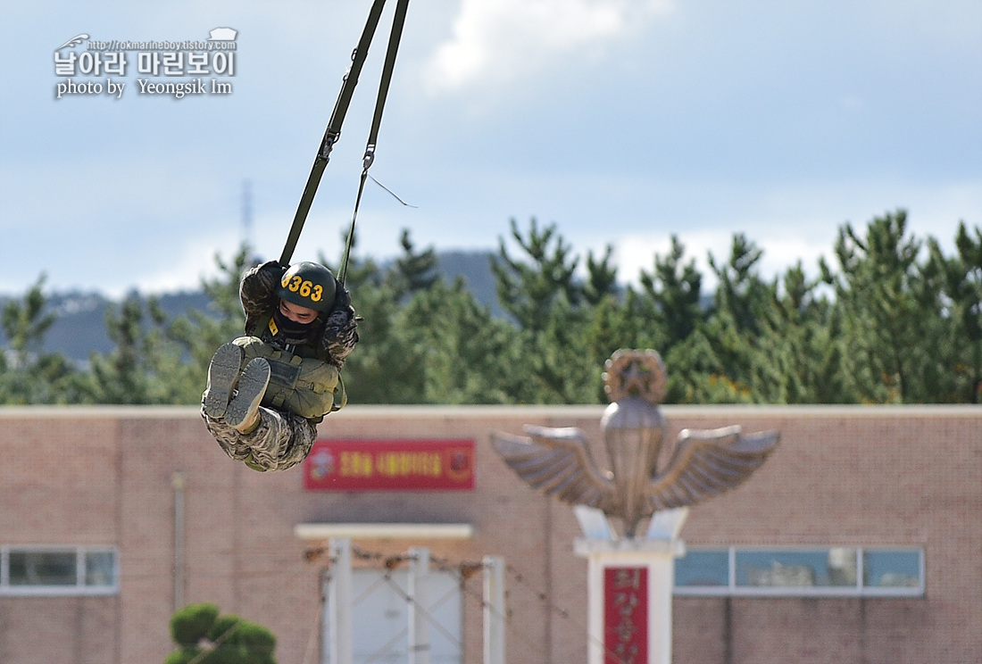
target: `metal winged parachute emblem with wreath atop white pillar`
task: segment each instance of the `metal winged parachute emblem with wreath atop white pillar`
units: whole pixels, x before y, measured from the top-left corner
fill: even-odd
[[[526,435],[494,433],[492,443],[528,484],[620,518],[627,537],[659,510],[694,505],[734,488],[777,447],[777,431],[684,429],[659,464],[667,429],[658,408],[667,382],[664,362],[654,351],[622,350],[606,368],[611,405],[600,425],[610,470],[596,464],[589,440],[576,427],[526,425]]]

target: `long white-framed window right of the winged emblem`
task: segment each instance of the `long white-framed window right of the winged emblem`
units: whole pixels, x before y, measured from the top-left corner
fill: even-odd
[[[916,548],[693,548],[675,570],[680,595],[924,594],[924,552]]]

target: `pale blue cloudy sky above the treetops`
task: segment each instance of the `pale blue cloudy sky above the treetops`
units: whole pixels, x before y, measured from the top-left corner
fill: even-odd
[[[343,250],[395,2],[295,260]],[[174,292],[244,241],[278,257],[368,7],[4,3],[0,294],[41,275],[48,291]],[[144,65],[168,50],[139,46],[122,75],[81,71],[89,41],[214,28],[236,30],[231,73],[139,72],[141,50]],[[227,91],[140,88],[196,79]],[[814,274],[846,222],[900,208],[954,251],[959,222],[982,227],[982,3],[411,0],[371,174],[409,203],[369,183],[355,253],[377,259],[403,229],[420,249],[518,254],[511,220],[535,219],[583,259],[611,246],[627,282],[673,235],[704,271],[742,233],[765,276]]]

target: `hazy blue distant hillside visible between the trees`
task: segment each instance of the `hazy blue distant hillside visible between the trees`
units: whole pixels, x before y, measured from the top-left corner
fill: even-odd
[[[494,275],[491,272],[489,251],[447,251],[438,254],[439,270],[449,283],[463,277],[477,302],[491,306],[496,315],[501,307],[495,295]],[[58,318],[44,337],[44,350],[58,353],[70,360],[84,361],[92,353],[105,354],[113,349],[106,333],[106,310],[118,302],[108,300],[98,293],[46,293],[50,310]],[[0,297],[0,307],[9,298]],[[189,310],[202,311],[208,304],[204,293],[165,294],[158,302],[170,317],[177,317]],[[355,306],[357,303],[355,302]],[[0,346],[7,339],[0,331]]]

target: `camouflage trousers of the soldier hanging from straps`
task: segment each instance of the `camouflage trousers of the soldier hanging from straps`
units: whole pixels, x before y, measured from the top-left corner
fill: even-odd
[[[201,410],[208,431],[219,446],[236,461],[250,461],[261,470],[287,470],[310,454],[317,427],[293,413],[259,409],[259,425],[251,433],[240,433],[223,417],[212,418]]]

